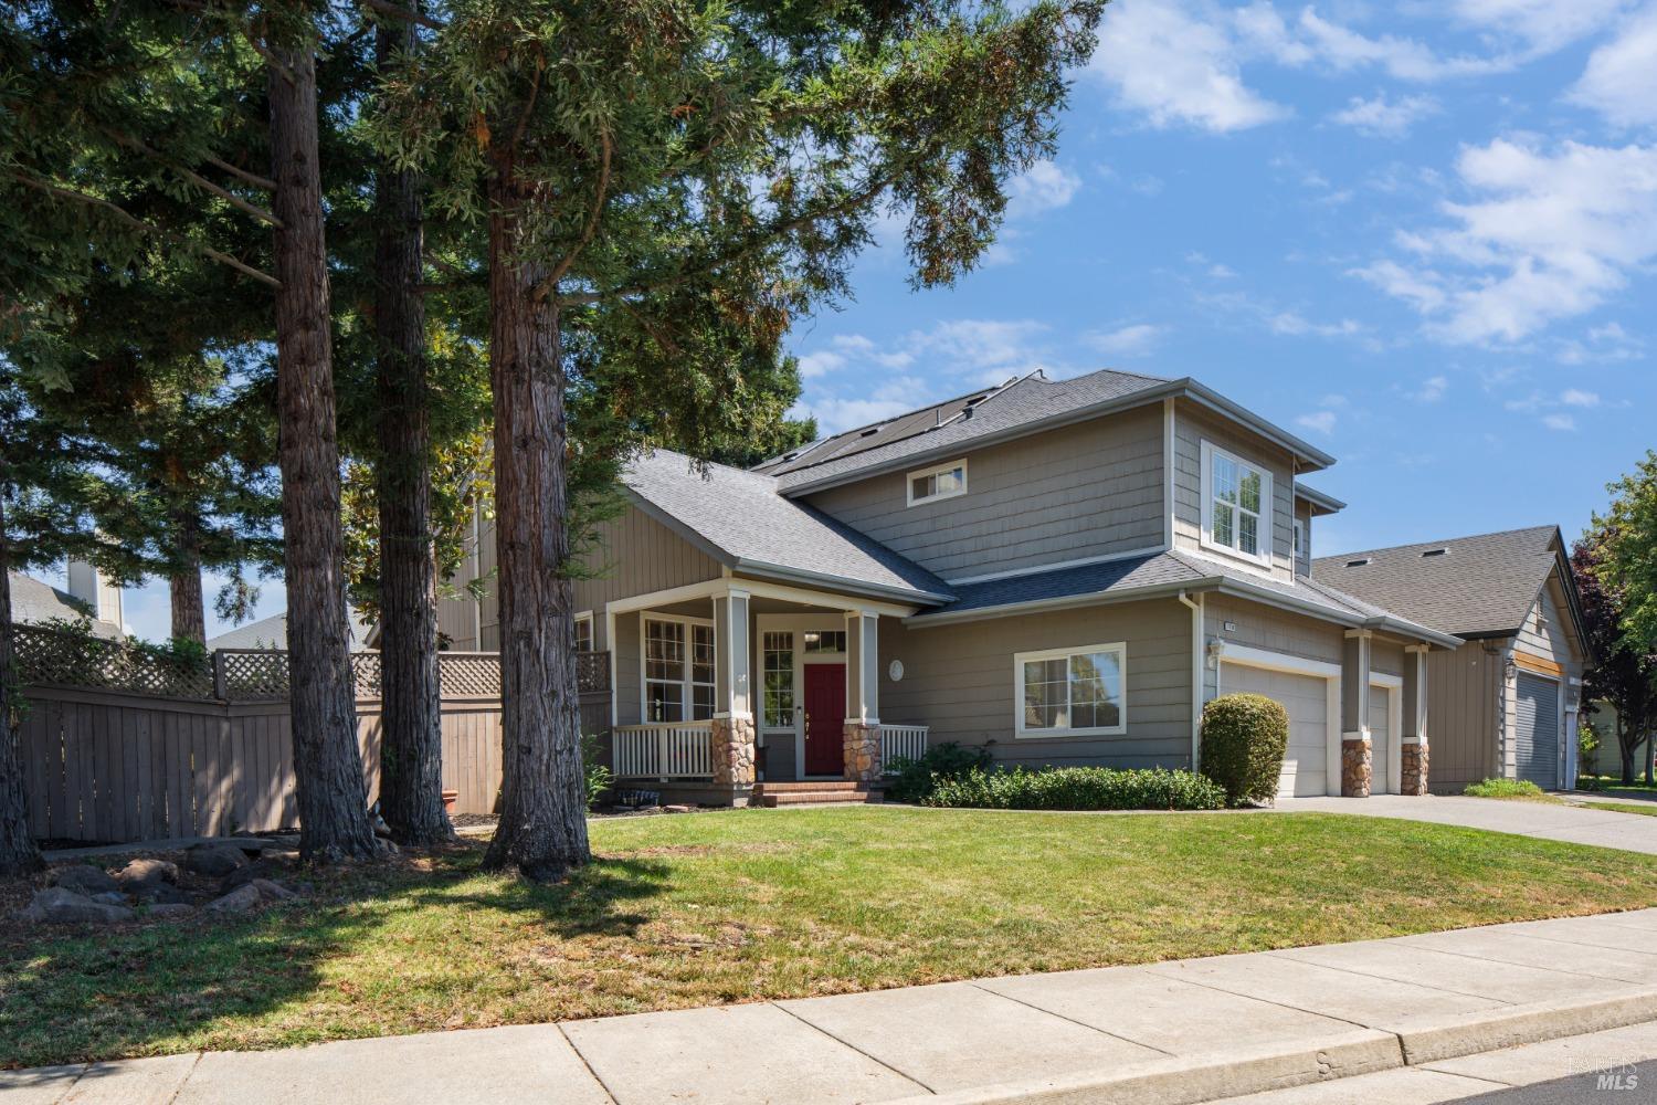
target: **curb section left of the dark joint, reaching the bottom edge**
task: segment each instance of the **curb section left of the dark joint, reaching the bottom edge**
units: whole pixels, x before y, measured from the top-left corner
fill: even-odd
[[[1321,1047],[1259,1049],[1228,1059],[1155,1059],[1062,1078],[1034,1078],[946,1093],[898,1098],[886,1105],[1196,1105],[1223,1097],[1283,1090],[1403,1067],[1399,1037],[1354,1029]]]

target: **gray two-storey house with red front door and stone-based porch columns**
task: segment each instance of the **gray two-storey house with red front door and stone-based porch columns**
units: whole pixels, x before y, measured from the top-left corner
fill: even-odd
[[[613,767],[742,803],[870,782],[954,741],[1002,764],[1193,767],[1203,704],[1289,712],[1283,794],[1423,792],[1427,656],[1452,633],[1309,577],[1334,461],[1193,379],[1032,374],[752,470],[625,472],[580,648]],[[481,562],[489,558],[481,542]],[[490,605],[446,605],[479,626]],[[487,628],[486,628],[487,626]]]

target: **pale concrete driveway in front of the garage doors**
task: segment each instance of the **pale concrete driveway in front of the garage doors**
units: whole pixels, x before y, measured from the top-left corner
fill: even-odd
[[[1657,855],[1657,817],[1582,810],[1551,802],[1503,802],[1460,795],[1407,799],[1384,794],[1369,799],[1281,799],[1276,808],[1283,813],[1357,813],[1466,825],[1518,837],[1569,840],[1579,845]]]

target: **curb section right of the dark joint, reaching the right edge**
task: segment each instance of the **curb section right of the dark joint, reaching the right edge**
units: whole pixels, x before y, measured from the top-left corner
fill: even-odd
[[[1408,1067],[1496,1052],[1521,1044],[1587,1035],[1629,1024],[1657,1021],[1657,991],[1614,994],[1572,1002],[1508,1006],[1473,1017],[1417,1022],[1399,1030]]]

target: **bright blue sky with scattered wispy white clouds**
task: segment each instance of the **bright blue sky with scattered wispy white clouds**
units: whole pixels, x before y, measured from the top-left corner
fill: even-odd
[[[910,292],[882,242],[790,338],[825,431],[1195,376],[1339,457],[1319,553],[1574,537],[1657,446],[1657,0],[1115,0],[988,263]]]

